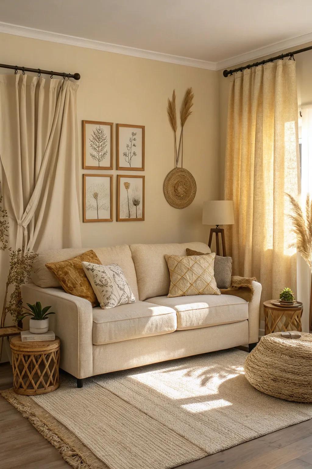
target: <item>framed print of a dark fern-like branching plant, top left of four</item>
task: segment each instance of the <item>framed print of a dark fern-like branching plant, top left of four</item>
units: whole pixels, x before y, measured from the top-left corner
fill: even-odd
[[[113,169],[113,125],[82,121],[83,169]]]

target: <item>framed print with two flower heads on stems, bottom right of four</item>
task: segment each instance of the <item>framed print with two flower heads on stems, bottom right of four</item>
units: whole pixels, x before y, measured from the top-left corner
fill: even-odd
[[[144,221],[145,176],[117,175],[117,221]]]

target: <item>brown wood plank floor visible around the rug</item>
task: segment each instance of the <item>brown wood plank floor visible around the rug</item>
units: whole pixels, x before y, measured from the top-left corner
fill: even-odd
[[[0,389],[11,386],[11,367],[7,363],[0,364]],[[45,440],[20,412],[0,397],[0,468],[69,467],[54,446]],[[179,468],[312,469],[312,420],[184,464]]]

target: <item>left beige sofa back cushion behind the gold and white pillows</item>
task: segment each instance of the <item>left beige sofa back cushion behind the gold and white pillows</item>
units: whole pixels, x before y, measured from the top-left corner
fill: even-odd
[[[37,257],[33,264],[30,280],[35,285],[42,288],[61,287],[58,279],[46,268],[45,264],[80,256],[80,254],[89,249],[90,248],[69,248],[38,252],[39,257]],[[137,277],[129,246],[122,244],[108,248],[94,248],[93,250],[102,262],[102,265],[120,265],[134,296],[138,299]]]

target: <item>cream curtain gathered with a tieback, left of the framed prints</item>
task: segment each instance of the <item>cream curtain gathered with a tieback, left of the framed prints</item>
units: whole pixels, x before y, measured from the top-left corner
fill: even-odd
[[[81,246],[77,89],[65,80],[0,76],[1,190],[16,248]]]

